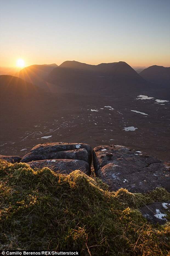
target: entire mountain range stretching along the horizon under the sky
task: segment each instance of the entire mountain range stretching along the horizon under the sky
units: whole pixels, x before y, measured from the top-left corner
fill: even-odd
[[[137,79],[137,81],[143,81],[155,84],[169,84],[170,81],[170,67],[163,67],[153,65],[151,67],[134,67],[132,68],[126,62],[113,62],[113,63],[101,63],[98,65],[90,65],[86,63],[73,61],[65,61],[61,65],[43,64],[43,65],[31,65],[25,67],[12,74],[12,70],[0,67],[1,75],[14,75],[19,78],[41,86],[46,82],[66,83],[76,78],[76,80],[87,79],[91,81],[93,79],[111,78],[112,81],[118,81],[123,79]],[[99,79],[101,80],[101,79]],[[75,82],[75,81],[74,81]]]

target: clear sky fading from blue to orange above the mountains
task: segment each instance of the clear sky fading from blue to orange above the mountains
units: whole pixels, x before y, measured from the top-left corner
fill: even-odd
[[[170,0],[0,0],[0,66],[170,66]]]

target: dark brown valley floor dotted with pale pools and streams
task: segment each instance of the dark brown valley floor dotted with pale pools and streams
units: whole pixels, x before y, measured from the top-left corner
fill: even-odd
[[[84,142],[92,147],[119,144],[168,162],[170,104],[155,99],[58,95],[27,116],[2,116],[0,152],[23,156],[37,142]]]

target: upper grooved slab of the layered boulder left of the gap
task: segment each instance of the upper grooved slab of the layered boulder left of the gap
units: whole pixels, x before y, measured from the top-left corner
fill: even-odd
[[[86,161],[91,165],[92,148],[84,143],[43,143],[33,147],[22,158],[21,162],[28,163],[30,161],[45,159],[77,159]]]

